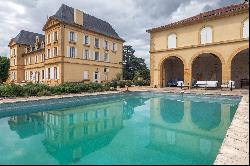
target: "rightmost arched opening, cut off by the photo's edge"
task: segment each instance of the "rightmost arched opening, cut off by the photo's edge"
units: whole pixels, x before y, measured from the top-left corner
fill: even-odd
[[[231,80],[235,81],[236,88],[249,88],[249,49],[234,56],[231,62]]]

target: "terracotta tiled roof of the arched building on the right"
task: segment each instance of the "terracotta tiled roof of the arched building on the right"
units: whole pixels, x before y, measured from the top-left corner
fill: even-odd
[[[206,20],[206,19],[220,17],[226,14],[237,13],[237,12],[248,11],[248,10],[249,10],[249,4],[246,2],[241,3],[241,4],[233,4],[233,5],[222,7],[219,9],[212,10],[212,11],[200,13],[196,16],[193,16],[193,17],[190,17],[190,18],[178,21],[178,22],[174,22],[168,25],[149,29],[147,30],[147,32],[150,33],[150,32],[156,32],[156,31],[161,31],[161,30],[167,30],[167,29],[175,28],[181,25],[196,23],[196,22]]]

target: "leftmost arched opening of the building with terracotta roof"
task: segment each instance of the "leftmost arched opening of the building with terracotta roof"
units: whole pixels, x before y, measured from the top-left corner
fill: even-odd
[[[162,63],[162,87],[177,86],[177,81],[184,81],[184,63],[171,56]]]

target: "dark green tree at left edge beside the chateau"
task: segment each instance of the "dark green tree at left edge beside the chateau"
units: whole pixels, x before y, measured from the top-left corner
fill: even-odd
[[[10,60],[0,56],[0,83],[5,82],[9,77]]]

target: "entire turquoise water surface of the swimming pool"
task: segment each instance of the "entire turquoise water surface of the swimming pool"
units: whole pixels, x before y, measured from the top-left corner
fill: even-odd
[[[239,97],[129,93],[0,105],[0,164],[213,164]]]

